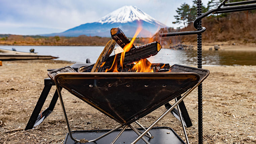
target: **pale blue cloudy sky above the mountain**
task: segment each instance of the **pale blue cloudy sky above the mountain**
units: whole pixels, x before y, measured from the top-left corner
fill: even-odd
[[[204,5],[209,0],[202,0]],[[36,35],[63,32],[125,5],[137,6],[170,27],[182,3],[192,0],[0,0],[0,34]]]

